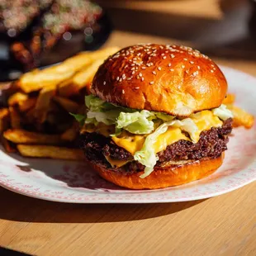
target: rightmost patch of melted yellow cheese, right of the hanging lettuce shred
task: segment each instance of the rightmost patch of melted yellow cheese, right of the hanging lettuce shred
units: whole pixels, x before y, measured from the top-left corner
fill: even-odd
[[[200,134],[203,130],[210,130],[211,127],[222,126],[222,121],[220,121],[220,118],[218,116],[214,116],[212,111],[208,110],[193,114],[192,116],[189,116],[189,118],[195,122],[198,128],[194,135],[197,141],[200,139]]]

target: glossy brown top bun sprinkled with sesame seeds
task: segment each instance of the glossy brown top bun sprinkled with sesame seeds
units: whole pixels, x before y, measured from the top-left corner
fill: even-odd
[[[219,107],[224,74],[206,55],[178,45],[133,45],[98,69],[91,92],[123,107],[173,116]]]

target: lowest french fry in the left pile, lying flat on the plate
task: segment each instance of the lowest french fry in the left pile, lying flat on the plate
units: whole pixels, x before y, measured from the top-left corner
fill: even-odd
[[[81,149],[69,149],[49,145],[17,145],[17,149],[21,155],[26,157],[84,160],[83,150]]]

